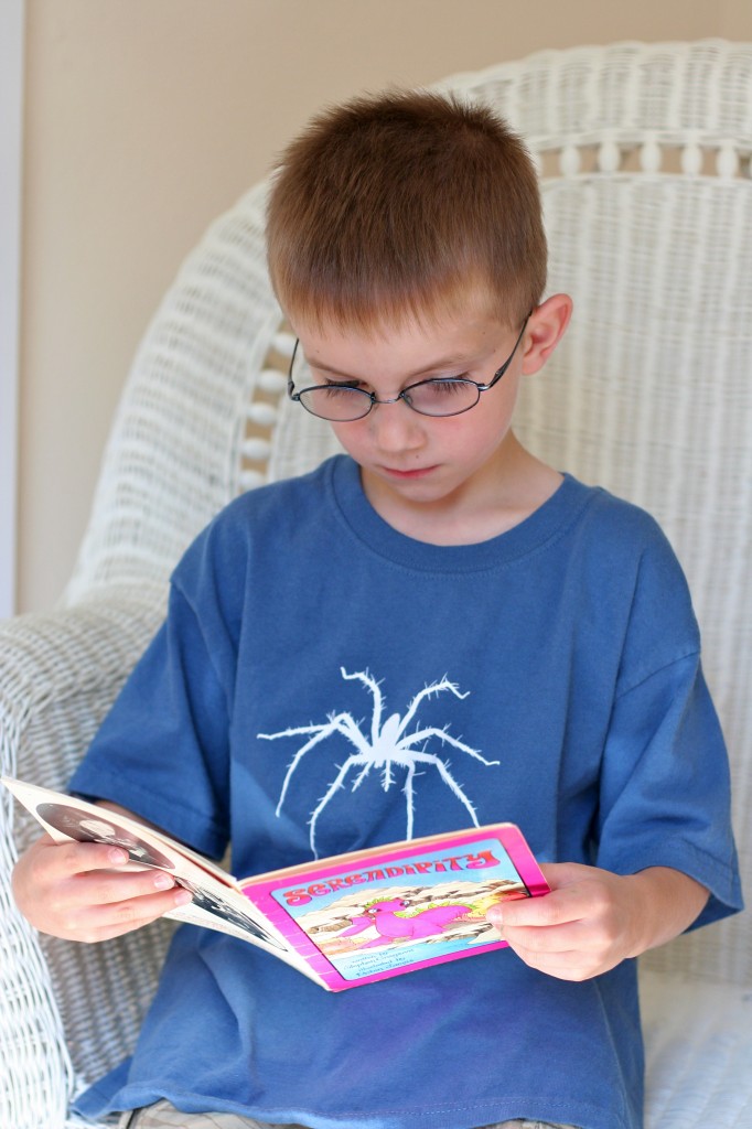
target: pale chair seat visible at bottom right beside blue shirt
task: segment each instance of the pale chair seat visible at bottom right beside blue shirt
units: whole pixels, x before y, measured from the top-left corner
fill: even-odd
[[[752,988],[640,972],[646,1129],[750,1129]]]

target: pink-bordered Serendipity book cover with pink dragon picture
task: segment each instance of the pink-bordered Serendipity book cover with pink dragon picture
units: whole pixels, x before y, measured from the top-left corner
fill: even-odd
[[[493,902],[549,892],[511,823],[429,835],[242,882],[330,991],[342,991],[507,943]]]

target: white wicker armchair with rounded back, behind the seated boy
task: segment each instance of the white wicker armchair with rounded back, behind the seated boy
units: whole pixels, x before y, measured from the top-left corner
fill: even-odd
[[[489,99],[539,156],[550,290],[576,314],[519,431],[652,510],[690,576],[752,877],[752,44],[546,52],[441,86]],[[289,353],[264,186],[208,231],[138,353],[59,610],[0,631],[3,772],[63,786],[163,612],[168,572],[237,492],[333,447],[283,399]],[[1,797],[0,1124],[62,1129],[71,1093],[132,1045],[165,930],[76,946],[19,919],[34,828]],[[645,961],[649,1129],[752,1126],[745,916]]]

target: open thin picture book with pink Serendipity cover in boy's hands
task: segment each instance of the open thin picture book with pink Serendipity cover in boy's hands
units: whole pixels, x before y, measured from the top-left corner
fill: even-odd
[[[132,816],[0,778],[56,841],[122,847],[193,900],[166,914],[256,945],[329,991],[504,948],[493,902],[549,892],[519,828],[472,826],[237,879]],[[119,868],[122,869],[122,868]]]

